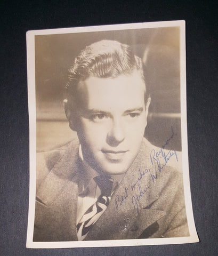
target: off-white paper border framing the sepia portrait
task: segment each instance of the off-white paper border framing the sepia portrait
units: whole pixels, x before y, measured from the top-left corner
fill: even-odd
[[[181,78],[181,140],[184,197],[189,226],[189,237],[146,238],[104,241],[72,241],[72,242],[33,242],[35,196],[36,196],[36,93],[35,93],[35,36],[69,33],[86,33],[93,31],[126,30],[160,27],[180,27],[180,78]],[[28,76],[28,106],[29,106],[29,147],[30,147],[30,183],[29,183],[29,213],[27,228],[28,248],[69,248],[69,247],[107,247],[107,246],[135,246],[157,244],[183,244],[199,242],[193,219],[191,191],[188,164],[187,141],[187,107],[186,107],[186,73],[185,73],[185,21],[162,21],[146,23],[130,23],[120,25],[60,28],[27,31],[27,76]]]

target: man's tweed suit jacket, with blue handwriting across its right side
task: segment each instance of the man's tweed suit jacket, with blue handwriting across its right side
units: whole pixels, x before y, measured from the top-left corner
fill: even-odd
[[[78,147],[74,140],[37,155],[34,242],[77,241],[78,180],[84,175]],[[143,139],[138,156],[85,240],[189,236],[176,158],[175,151],[163,151]]]

